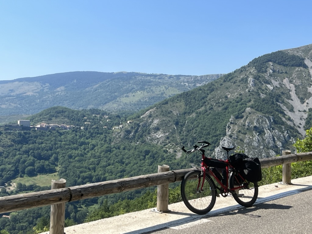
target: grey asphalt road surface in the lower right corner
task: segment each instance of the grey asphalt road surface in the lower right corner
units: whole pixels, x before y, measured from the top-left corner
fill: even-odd
[[[155,234],[266,234],[312,233],[312,189],[298,194],[258,203],[212,216],[198,218],[177,226],[153,232]]]

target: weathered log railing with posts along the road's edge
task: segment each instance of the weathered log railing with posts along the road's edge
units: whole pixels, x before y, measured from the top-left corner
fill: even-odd
[[[298,154],[289,153],[290,151],[283,151],[282,156],[261,159],[261,167],[268,168],[271,166],[283,165],[282,183],[290,184],[290,163],[312,160],[312,152]],[[52,181],[51,190],[0,197],[0,213],[51,205],[50,234],[63,234],[66,202],[181,181],[184,175],[190,170],[193,169],[165,171],[72,187],[66,187],[66,180],[60,179]],[[161,196],[161,194],[158,195]],[[164,199],[159,199],[159,201],[163,200]],[[57,204],[61,206],[57,206]],[[159,205],[159,207],[162,207],[162,205]],[[60,208],[64,210],[60,211]]]

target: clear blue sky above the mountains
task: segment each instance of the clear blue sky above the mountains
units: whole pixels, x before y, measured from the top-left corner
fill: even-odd
[[[312,1],[0,0],[0,80],[71,71],[229,73],[312,44]]]

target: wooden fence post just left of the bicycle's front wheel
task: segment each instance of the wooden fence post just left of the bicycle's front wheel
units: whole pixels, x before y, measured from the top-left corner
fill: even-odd
[[[158,165],[158,173],[169,171],[168,165]],[[169,203],[169,184],[161,184],[157,186],[157,211],[168,212]]]

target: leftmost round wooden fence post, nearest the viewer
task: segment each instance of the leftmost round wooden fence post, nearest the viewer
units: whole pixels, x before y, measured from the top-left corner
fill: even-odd
[[[52,179],[51,189],[66,187],[65,179]],[[65,202],[51,205],[50,234],[64,234]]]

